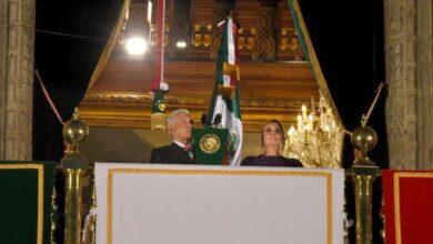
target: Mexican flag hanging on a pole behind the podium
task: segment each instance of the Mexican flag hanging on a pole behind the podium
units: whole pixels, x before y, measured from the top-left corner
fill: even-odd
[[[209,118],[221,114],[219,128],[229,129],[229,163],[239,165],[242,152],[242,120],[236,82],[239,81],[238,27],[231,18],[218,24],[222,39],[216,59],[216,81]]]

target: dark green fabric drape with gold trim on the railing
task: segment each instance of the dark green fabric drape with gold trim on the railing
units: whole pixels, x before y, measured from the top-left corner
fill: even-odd
[[[0,243],[51,243],[54,163],[0,162]]]

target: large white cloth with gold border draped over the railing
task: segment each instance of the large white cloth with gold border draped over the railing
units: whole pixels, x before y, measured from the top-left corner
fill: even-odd
[[[343,170],[97,163],[97,243],[343,243]]]

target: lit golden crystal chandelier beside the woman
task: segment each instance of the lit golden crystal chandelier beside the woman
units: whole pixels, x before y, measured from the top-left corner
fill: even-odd
[[[344,130],[322,92],[319,103],[311,101],[310,113],[302,104],[296,120],[296,128],[288,130],[282,154],[299,159],[304,167],[340,167]]]

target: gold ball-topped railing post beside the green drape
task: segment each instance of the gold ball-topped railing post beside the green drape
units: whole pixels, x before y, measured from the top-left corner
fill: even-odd
[[[89,134],[89,126],[78,116],[75,109],[72,119],[63,125],[67,142],[66,155],[61,160],[64,174],[64,243],[80,244],[82,216],[83,174],[88,160],[78,151],[78,144]]]

